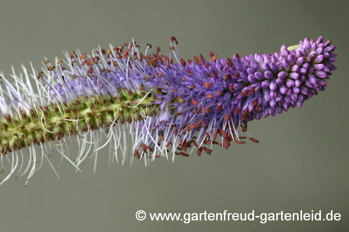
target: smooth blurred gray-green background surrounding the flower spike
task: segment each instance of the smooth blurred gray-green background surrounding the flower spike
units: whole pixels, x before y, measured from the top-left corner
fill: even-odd
[[[112,165],[107,150],[97,172],[67,162],[43,165],[28,186],[12,178],[0,187],[0,231],[331,231],[349,230],[348,1],[1,1],[0,70],[37,69],[62,50],[91,52],[129,42],[159,45],[170,36],[182,58],[213,51],[220,57],[279,51],[304,36],[336,45],[338,69],[326,91],[301,109],[249,123],[259,144],[215,147],[201,157]],[[76,147],[72,148],[73,154]],[[59,160],[55,160],[58,165]],[[330,210],[340,221],[137,221],[151,213],[295,213]]]

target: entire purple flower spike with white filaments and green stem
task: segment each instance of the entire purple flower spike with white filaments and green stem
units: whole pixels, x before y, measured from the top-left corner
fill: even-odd
[[[24,66],[11,78],[1,73],[1,183],[12,174],[26,175],[27,183],[44,161],[57,174],[52,148],[79,170],[86,158],[96,163],[108,144],[111,162],[124,163],[129,154],[147,165],[159,157],[211,154],[213,144],[243,144],[242,132],[258,143],[249,121],[301,107],[336,69],[335,47],[321,36],[283,45],[280,53],[219,58],[210,52],[187,61],[171,40],[169,57],[159,48],[150,53],[151,44],[142,54],[132,40],[91,55],[65,52],[64,60],[46,59],[39,73]]]

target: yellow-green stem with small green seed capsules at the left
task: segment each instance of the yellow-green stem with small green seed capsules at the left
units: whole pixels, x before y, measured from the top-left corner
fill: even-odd
[[[146,106],[156,100],[153,97],[140,97],[132,100],[121,98],[115,102],[112,99],[104,100],[103,103],[99,97],[92,96],[91,99],[91,102],[94,103],[89,100],[82,101],[82,98],[80,98],[74,102],[76,103],[75,107],[74,104],[59,104],[64,112],[63,115],[57,112],[55,105],[51,105],[41,111],[39,110],[39,114],[35,114],[35,116],[26,115],[26,119],[23,119],[23,116],[20,118],[18,115],[9,120],[8,117],[4,117],[0,129],[0,154],[5,153],[6,149],[19,149],[23,144],[31,145],[33,142],[43,142],[44,139],[48,141],[57,138],[57,136],[63,137],[64,134],[74,133],[76,132],[77,123],[79,123],[79,128],[84,131],[88,127],[100,128],[104,123],[108,125],[110,121],[115,119],[122,121],[134,117],[141,119],[140,111],[147,115]],[[95,99],[97,101],[94,101]],[[137,106],[132,107],[135,105]],[[43,117],[43,114],[46,116]],[[41,123],[42,118],[44,118],[43,123]],[[50,132],[46,131],[43,125]]]

